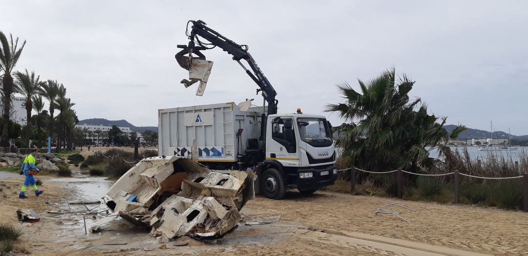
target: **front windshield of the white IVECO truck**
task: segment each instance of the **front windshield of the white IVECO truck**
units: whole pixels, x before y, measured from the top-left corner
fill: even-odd
[[[297,125],[299,126],[300,139],[304,142],[332,141],[330,129],[325,119],[299,117]]]

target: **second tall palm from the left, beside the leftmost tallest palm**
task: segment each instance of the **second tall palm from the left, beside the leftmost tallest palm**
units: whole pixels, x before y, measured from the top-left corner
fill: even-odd
[[[35,72],[31,74],[25,70],[25,73],[20,71],[15,72],[16,86],[14,92],[22,94],[25,99],[26,107],[26,140],[31,139],[31,111],[33,110],[32,97],[39,93],[42,82],[39,81],[40,76],[35,76]]]

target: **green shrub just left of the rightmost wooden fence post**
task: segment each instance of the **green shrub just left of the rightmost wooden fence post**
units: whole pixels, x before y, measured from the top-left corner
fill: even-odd
[[[521,182],[501,180],[491,186],[491,198],[499,208],[518,209],[521,208],[523,190]]]

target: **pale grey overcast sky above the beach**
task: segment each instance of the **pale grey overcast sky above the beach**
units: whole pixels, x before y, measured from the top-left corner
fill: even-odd
[[[26,40],[16,69],[58,80],[79,119],[157,125],[157,110],[262,104],[257,85],[218,48],[204,96],[174,59],[202,19],[249,52],[278,92],[279,113],[329,116],[335,84],[395,67],[412,96],[449,124],[528,134],[525,1],[4,1],[0,30]]]

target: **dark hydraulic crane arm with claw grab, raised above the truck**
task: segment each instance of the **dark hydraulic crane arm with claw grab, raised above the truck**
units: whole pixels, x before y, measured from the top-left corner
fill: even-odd
[[[259,88],[257,89],[257,93],[262,91],[262,96],[268,103],[268,114],[277,114],[278,101],[275,99],[277,92],[275,91],[273,86],[271,86],[271,83],[268,81],[268,78],[266,78],[264,73],[262,73],[253,57],[251,57],[251,55],[248,53],[248,46],[239,45],[233,42],[232,40],[229,40],[227,37],[206,26],[205,22],[203,21],[189,21],[189,23],[192,23],[191,32],[189,33],[187,31],[186,35],[188,36],[190,42],[188,43],[188,45],[178,45],[178,48],[183,48],[183,50],[178,52],[175,56],[176,60],[178,61],[178,64],[180,64],[180,66],[185,68],[186,70],[189,70],[189,60],[192,60],[192,54],[196,54],[198,56],[194,58],[205,60],[205,56],[200,51],[209,50],[214,47],[221,48],[223,51],[233,55],[233,60],[237,61],[240,66],[244,68],[244,70],[251,77],[251,79],[255,83],[257,83],[257,85],[259,86]],[[200,37],[202,37],[206,41],[209,41],[210,43],[200,41]],[[253,73],[248,70],[248,68],[246,68],[240,62],[240,60],[246,60]],[[262,126],[266,126],[264,118],[262,119]]]

